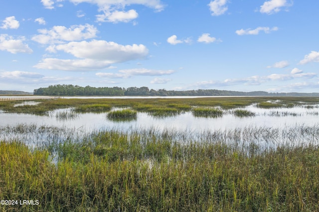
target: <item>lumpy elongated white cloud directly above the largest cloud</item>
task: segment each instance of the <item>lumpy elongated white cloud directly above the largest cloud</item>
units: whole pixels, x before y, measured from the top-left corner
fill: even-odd
[[[32,40],[41,44],[64,43],[65,41],[76,41],[96,37],[97,28],[90,24],[65,26],[53,26],[50,30],[39,29],[39,35]]]

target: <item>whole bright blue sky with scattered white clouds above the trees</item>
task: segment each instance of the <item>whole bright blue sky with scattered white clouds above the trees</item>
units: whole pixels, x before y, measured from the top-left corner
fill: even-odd
[[[318,0],[0,4],[0,90],[319,92]]]

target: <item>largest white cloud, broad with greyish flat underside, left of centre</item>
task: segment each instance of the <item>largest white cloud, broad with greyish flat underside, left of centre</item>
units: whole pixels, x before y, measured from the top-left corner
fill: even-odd
[[[64,71],[92,71],[107,68],[113,63],[144,59],[148,55],[148,49],[142,44],[124,46],[104,40],[60,44],[51,46],[51,51],[64,51],[78,59],[45,58],[34,67]]]

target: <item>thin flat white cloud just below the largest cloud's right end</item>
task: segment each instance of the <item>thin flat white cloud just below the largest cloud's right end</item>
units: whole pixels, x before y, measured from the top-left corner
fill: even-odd
[[[133,76],[162,76],[173,74],[174,70],[152,70],[152,69],[124,69],[119,73],[96,73],[99,77],[104,78],[130,78]]]

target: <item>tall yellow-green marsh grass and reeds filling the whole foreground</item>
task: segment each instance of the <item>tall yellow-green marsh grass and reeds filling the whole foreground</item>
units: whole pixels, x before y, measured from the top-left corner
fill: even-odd
[[[39,201],[5,211],[319,210],[318,126],[81,138],[48,126],[0,130],[19,135],[0,142],[0,200]]]

